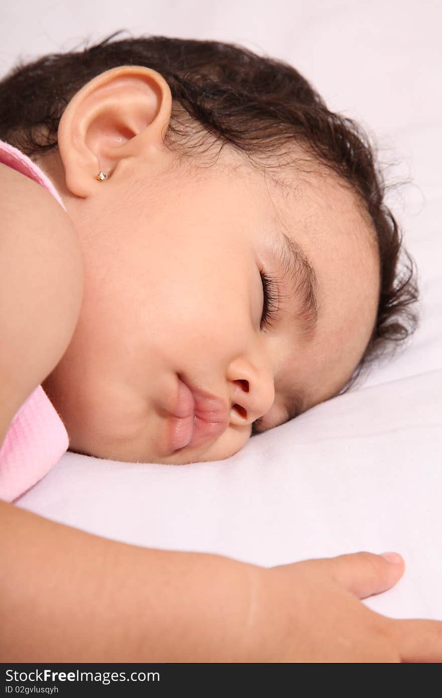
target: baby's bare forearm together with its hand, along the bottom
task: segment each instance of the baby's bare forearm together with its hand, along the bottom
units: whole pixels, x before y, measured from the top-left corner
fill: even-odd
[[[358,596],[404,566],[369,553],[265,569],[107,540],[0,503],[3,662],[440,662],[442,623]]]

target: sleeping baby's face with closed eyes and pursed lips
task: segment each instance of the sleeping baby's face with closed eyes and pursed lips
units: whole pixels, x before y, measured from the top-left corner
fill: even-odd
[[[286,422],[290,398],[303,394],[306,410],[344,387],[374,327],[378,257],[353,195],[331,174],[310,178],[293,173],[283,190],[226,150],[189,174],[165,149],[152,168],[132,158],[88,198],[64,190],[84,253],[84,300],[43,387],[71,450],[144,463],[222,460],[246,444],[256,419],[260,431]],[[291,295],[279,261],[282,232],[316,277],[312,336],[302,331],[302,293]],[[260,270],[284,296],[272,327],[261,323]],[[180,378],[216,398],[212,416],[207,404],[189,414]],[[211,419],[217,426],[202,427],[198,445],[174,449],[180,425],[184,433]]]

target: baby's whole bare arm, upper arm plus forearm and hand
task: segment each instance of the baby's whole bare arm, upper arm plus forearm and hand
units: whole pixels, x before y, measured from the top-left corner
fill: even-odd
[[[2,440],[71,340],[83,267],[63,209],[4,167],[0,211]],[[442,624],[392,621],[358,600],[404,571],[378,556],[267,570],[126,545],[3,502],[0,537],[3,662],[442,660]]]

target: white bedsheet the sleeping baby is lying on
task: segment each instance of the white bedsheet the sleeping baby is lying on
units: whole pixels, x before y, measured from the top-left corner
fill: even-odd
[[[289,61],[332,109],[376,136],[381,162],[396,162],[388,181],[411,179],[388,203],[418,265],[422,322],[363,385],[227,461],[177,467],[67,453],[18,505],[115,540],[265,566],[398,551],[406,574],[367,605],[442,619],[442,6],[225,0],[221,13],[221,3],[182,1],[172,13],[167,3],[132,4],[128,25],[117,2],[16,1],[0,29],[3,72],[19,52],[67,50],[124,27],[233,41]]]

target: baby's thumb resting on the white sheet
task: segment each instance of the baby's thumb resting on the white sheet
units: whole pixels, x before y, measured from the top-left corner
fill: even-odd
[[[353,553],[322,562],[338,584],[360,599],[387,591],[405,571],[404,560],[397,553]]]

